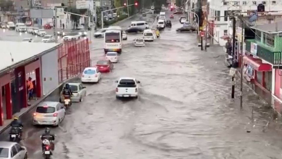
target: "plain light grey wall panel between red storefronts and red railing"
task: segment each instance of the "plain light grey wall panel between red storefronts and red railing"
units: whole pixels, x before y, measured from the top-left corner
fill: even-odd
[[[46,79],[44,81],[44,78]],[[43,95],[58,87],[58,53],[57,50],[49,52],[41,57],[41,79]]]

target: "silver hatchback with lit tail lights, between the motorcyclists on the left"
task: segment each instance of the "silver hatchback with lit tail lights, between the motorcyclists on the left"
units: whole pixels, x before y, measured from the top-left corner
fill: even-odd
[[[41,102],[33,113],[33,125],[58,126],[65,118],[66,110],[59,102]]]

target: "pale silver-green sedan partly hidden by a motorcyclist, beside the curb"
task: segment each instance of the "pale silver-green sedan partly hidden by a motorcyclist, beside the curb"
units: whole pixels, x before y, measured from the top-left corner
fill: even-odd
[[[86,87],[84,87],[79,82],[68,82],[73,95],[70,97],[72,102],[82,102],[83,98],[86,96]],[[63,92],[60,94],[60,102],[63,101]]]

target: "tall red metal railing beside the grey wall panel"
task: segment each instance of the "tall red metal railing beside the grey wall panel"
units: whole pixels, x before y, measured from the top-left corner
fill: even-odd
[[[90,66],[88,39],[64,42],[58,48],[59,83],[73,78]]]

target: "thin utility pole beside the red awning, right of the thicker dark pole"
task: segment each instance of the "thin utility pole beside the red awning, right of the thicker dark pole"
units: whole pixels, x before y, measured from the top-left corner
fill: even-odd
[[[241,65],[241,87],[240,87],[240,109],[243,108],[243,48],[244,48],[244,21],[243,21],[243,15],[241,16],[241,24],[242,24],[242,33],[241,33],[241,57],[240,57],[240,65]]]

